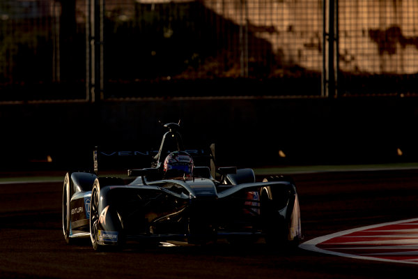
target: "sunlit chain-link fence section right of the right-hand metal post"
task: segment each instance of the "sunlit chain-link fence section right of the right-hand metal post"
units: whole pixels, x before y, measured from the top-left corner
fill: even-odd
[[[416,94],[418,1],[339,1],[341,94]]]

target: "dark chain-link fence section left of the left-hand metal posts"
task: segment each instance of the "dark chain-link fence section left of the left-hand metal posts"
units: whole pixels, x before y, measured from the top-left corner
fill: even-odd
[[[85,98],[84,25],[70,7],[0,1],[0,100]]]

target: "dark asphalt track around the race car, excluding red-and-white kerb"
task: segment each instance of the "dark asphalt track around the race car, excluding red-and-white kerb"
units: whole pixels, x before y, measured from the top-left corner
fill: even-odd
[[[293,174],[304,241],[418,217],[418,170]],[[351,259],[264,243],[133,247],[65,244],[61,182],[0,184],[0,278],[401,278],[417,265]]]

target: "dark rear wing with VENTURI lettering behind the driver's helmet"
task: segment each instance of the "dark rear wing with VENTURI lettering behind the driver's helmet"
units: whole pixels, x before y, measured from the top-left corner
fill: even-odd
[[[209,167],[212,176],[215,177],[215,144],[211,144],[206,149],[185,149],[183,151],[192,156],[194,165]],[[127,171],[127,169],[157,166],[155,156],[158,153],[159,151],[109,151],[101,150],[98,146],[95,146],[93,150],[93,172],[99,175],[99,172]],[[169,155],[170,151],[166,153],[161,154],[164,156],[162,158]]]

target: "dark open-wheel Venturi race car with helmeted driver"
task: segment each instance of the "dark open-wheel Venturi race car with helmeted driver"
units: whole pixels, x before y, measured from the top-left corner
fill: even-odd
[[[270,176],[257,182],[252,169],[215,167],[213,144],[207,154],[187,151],[179,124],[164,127],[168,131],[150,165],[127,169],[126,178],[100,176],[99,167],[104,158],[127,157],[121,154],[128,152],[98,149],[91,172],[65,174],[67,243],[90,238],[95,250],[132,241],[158,245],[265,239],[278,246],[297,245],[302,238],[300,207],[291,178]]]

